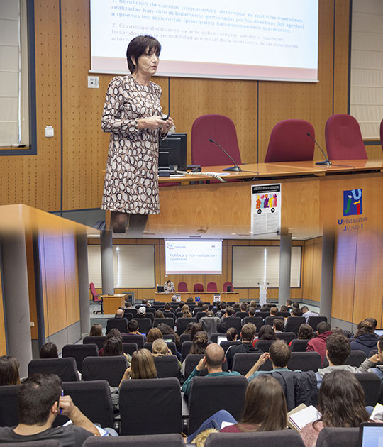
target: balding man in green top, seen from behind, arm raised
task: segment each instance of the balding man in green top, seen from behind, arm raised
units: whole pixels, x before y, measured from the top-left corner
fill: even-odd
[[[226,375],[240,375],[237,371],[232,371],[231,373],[228,373],[227,371],[222,370],[222,364],[225,361],[225,352],[223,351],[223,348],[217,343],[211,343],[209,346],[207,346],[205,351],[204,358],[201,358],[199,360],[198,365],[196,365],[196,368],[194,368],[193,371],[191,371],[191,374],[187,378],[187,380],[184,381],[184,385],[182,385],[182,391],[187,396],[190,395],[190,388],[191,388],[191,379],[195,377],[196,375],[199,375],[202,370],[205,370],[207,368],[208,374],[206,377],[221,377]]]

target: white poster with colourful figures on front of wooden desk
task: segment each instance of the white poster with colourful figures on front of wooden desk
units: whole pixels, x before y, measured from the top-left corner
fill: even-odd
[[[280,233],[281,184],[257,184],[251,187],[251,231],[253,236]]]

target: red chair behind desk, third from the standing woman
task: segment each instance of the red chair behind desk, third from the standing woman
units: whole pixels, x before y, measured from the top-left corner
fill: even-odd
[[[327,154],[330,160],[362,160],[367,158],[362,133],[351,115],[333,115],[325,126]]]

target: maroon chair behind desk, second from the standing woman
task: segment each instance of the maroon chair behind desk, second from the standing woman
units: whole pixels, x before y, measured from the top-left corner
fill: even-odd
[[[270,135],[265,163],[313,160],[313,125],[304,119],[285,119],[275,124]]]

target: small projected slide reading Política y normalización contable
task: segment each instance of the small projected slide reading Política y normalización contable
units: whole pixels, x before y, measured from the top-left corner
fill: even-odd
[[[165,241],[167,275],[221,275],[222,241]]]

